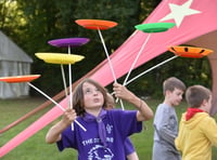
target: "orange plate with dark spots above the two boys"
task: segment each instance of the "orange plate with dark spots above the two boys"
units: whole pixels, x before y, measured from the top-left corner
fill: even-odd
[[[213,53],[213,50],[194,46],[170,46],[168,50],[178,56],[193,58],[201,58]]]

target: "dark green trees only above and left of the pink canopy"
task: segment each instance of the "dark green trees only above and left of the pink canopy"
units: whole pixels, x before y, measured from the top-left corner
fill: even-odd
[[[102,31],[108,53],[115,51],[135,30],[133,26],[140,22],[140,0],[4,0],[1,2],[1,17],[4,17],[1,21],[1,29],[34,58],[31,72],[43,74],[35,83],[50,94],[63,89],[60,80],[61,74],[56,74],[60,72],[60,68],[48,66],[49,64],[37,59],[35,53],[65,53],[67,49],[53,48],[48,44],[49,40],[69,37],[90,39],[85,46],[73,49],[74,54],[86,56],[84,61],[73,66],[73,72],[75,72],[73,80],[75,81],[105,59],[97,30],[84,29],[75,23],[76,19],[95,18],[118,23],[118,26],[108,31]],[[151,8],[152,3],[148,0],[143,1],[142,8],[144,9],[145,2],[149,2],[146,6]],[[148,15],[150,9],[143,9],[142,14]],[[55,79],[52,79],[54,75]],[[52,81],[50,81],[51,79]],[[54,89],[55,91],[53,91]]]

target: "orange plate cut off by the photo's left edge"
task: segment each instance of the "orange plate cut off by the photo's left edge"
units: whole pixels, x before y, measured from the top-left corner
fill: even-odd
[[[8,82],[8,83],[30,82],[39,77],[40,77],[40,75],[0,77],[0,81]]]

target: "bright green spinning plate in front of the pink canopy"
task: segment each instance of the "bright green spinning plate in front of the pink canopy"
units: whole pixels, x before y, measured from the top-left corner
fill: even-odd
[[[151,24],[141,24],[135,26],[138,30],[144,32],[162,32],[166,31],[169,28],[174,27],[174,23],[151,23]]]

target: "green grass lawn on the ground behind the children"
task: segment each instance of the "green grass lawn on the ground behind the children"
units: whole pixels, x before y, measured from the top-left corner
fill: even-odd
[[[4,99],[0,101],[0,129],[3,129],[8,124],[17,120],[25,114],[29,112],[40,104],[42,104],[44,98],[23,98],[23,99]],[[156,106],[161,101],[149,99],[148,104],[155,111]],[[10,129],[9,131],[0,135],[0,146],[3,146],[7,142],[17,135],[21,131],[25,130],[34,121],[36,121],[40,116],[51,109],[52,106],[39,111],[38,114],[31,116],[27,120],[21,122],[16,126]],[[128,108],[127,105],[125,105]],[[181,114],[184,112],[187,105],[182,103],[177,107],[177,115],[180,118]],[[58,119],[59,120],[59,119]],[[56,121],[58,121],[56,120]],[[44,143],[44,136],[56,121],[43,128],[41,131],[37,132],[30,138],[25,141],[23,144],[11,150],[1,160],[67,160],[77,159],[76,151],[73,149],[66,149],[63,152],[59,152],[55,145],[48,145]],[[153,128],[152,120],[144,123],[146,128],[141,133],[131,136],[136,150],[141,160],[151,160],[152,158],[152,145],[153,145]],[[217,159],[217,148],[213,150],[213,160]]]

